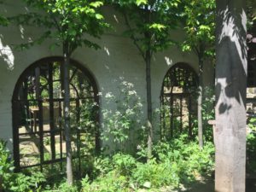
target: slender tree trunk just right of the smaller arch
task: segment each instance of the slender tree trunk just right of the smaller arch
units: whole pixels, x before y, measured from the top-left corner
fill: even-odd
[[[198,141],[199,147],[203,148],[203,125],[202,125],[202,97],[203,97],[203,59],[202,56],[199,55],[199,86],[198,86],[198,98],[197,98],[197,123],[198,123]]]

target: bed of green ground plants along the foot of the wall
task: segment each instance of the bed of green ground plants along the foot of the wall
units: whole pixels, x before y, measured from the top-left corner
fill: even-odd
[[[46,175],[40,172],[15,173],[9,152],[1,145],[1,177],[6,191],[137,191],[147,189],[158,191],[163,187],[178,188],[181,184],[194,182],[200,176],[213,171],[214,148],[206,143],[200,150],[198,142],[189,141],[182,135],[171,142],[154,145],[153,158],[147,162],[147,153],[138,146],[137,154],[115,154],[97,156],[90,172],[81,180],[69,186],[65,177],[46,182]],[[59,176],[60,177],[60,176]]]

